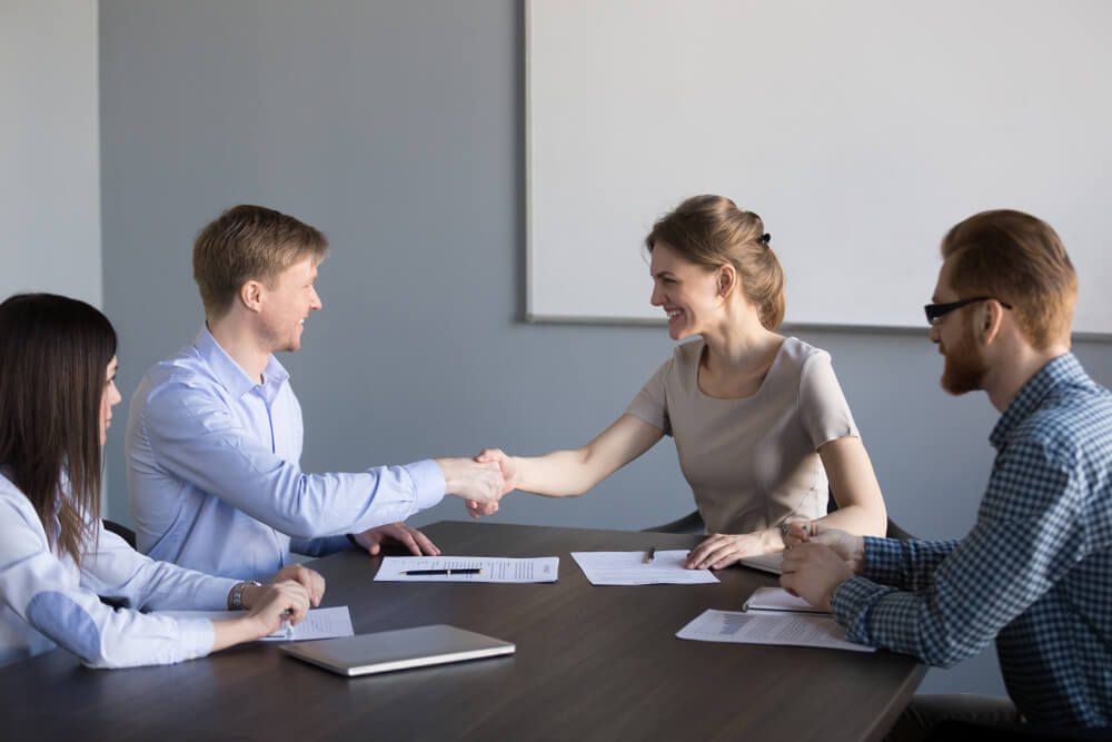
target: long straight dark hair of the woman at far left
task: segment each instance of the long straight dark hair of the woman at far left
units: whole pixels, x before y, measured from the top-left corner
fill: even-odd
[[[0,304],[0,467],[51,546],[78,564],[96,535],[86,518],[99,527],[100,405],[115,355],[116,330],[85,301],[17,294]]]

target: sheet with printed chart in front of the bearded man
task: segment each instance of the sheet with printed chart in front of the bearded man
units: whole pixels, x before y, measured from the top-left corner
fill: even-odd
[[[813,613],[743,613],[708,609],[676,632],[679,639],[735,644],[821,646],[852,652],[875,652],[872,646],[845,640],[845,629],[828,615]]]

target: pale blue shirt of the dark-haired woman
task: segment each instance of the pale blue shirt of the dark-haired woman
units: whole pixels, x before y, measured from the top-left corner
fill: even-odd
[[[53,521],[56,533],[58,520]],[[0,666],[63,646],[92,667],[171,664],[212,650],[212,622],[113,610],[224,610],[234,580],[152,562],[99,530],[81,567],[51,548],[38,513],[0,475]]]

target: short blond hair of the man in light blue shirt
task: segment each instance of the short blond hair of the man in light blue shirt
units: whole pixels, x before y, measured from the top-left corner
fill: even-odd
[[[205,316],[228,313],[249,280],[272,286],[275,278],[306,256],[314,264],[328,254],[328,238],[315,227],[261,206],[234,206],[201,229],[193,243],[193,280]]]

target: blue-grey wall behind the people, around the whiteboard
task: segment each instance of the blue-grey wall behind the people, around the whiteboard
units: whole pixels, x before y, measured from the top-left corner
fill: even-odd
[[[200,327],[192,238],[246,201],[332,244],[325,309],[281,358],[305,408],[307,471],[490,445],[543,453],[617,417],[671,353],[663,327],[520,321],[523,44],[513,0],[102,0],[105,296],[125,397]],[[907,249],[935,250],[947,226]],[[907,300],[933,284],[923,276]],[[797,334],[833,353],[892,515],[923,536],[964,533],[996,417],[983,395],[941,392],[925,332]],[[1079,353],[1112,382],[1109,346]],[[125,482],[122,429],[111,431],[113,483]],[[691,508],[664,442],[587,496],[515,494],[494,520],[641,528]],[[111,513],[126,512],[117,484]],[[414,522],[464,517],[448,498]],[[924,687],[1002,692],[991,651],[932,671]]]

